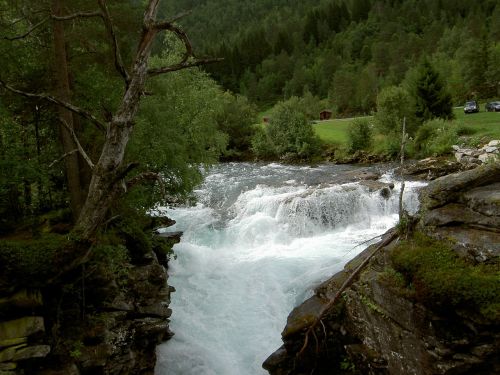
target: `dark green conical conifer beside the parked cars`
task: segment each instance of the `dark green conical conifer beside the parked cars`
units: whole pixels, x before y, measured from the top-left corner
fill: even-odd
[[[451,95],[427,59],[418,68],[414,87],[415,116],[424,122],[436,117],[453,118]]]

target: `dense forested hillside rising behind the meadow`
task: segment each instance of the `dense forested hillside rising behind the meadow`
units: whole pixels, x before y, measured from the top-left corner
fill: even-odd
[[[171,1],[170,3],[174,3]],[[175,1],[224,87],[266,107],[311,92],[339,114],[369,113],[427,57],[453,102],[499,95],[500,4],[494,0]],[[167,7],[168,8],[168,7]]]

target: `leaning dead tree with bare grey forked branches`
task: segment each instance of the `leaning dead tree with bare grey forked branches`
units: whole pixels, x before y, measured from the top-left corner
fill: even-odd
[[[59,0],[54,0],[58,2]],[[73,139],[73,149],[77,149],[83,159],[87,161],[92,171],[92,177],[88,187],[88,194],[82,204],[75,226],[71,232],[71,238],[77,245],[74,246],[73,254],[70,255],[69,262],[64,268],[67,270],[79,265],[85,260],[89,253],[90,245],[94,239],[97,229],[106,218],[106,214],[114,200],[126,192],[127,186],[132,186],[138,182],[141,175],[135,176],[133,181],[127,181],[127,176],[135,167],[135,164],[124,163],[124,154],[130,134],[134,128],[134,118],[137,114],[141,97],[144,95],[145,84],[148,78],[186,68],[201,66],[208,63],[221,61],[217,58],[200,59],[193,52],[192,45],[186,33],[179,28],[175,21],[185,14],[174,17],[171,20],[157,20],[158,5],[160,0],[149,0],[146,5],[142,22],[142,32],[138,43],[137,52],[133,58],[130,69],[127,69],[117,42],[115,27],[112,17],[108,11],[105,0],[97,0],[98,10],[95,12],[81,12],[74,14],[51,14],[49,19],[64,22],[75,18],[100,17],[109,35],[110,43],[113,46],[114,65],[124,82],[124,93],[111,119],[104,122],[89,111],[79,108],[68,101],[67,98],[54,97],[48,94],[35,94],[17,90],[12,85],[0,81],[0,86],[5,89],[29,98],[38,98],[53,104],[74,115],[83,117],[94,123],[101,129],[105,129],[105,139],[99,159],[93,163],[81,146],[75,132],[71,126],[65,124],[66,130]],[[38,28],[42,22],[34,25],[25,34],[29,35],[34,28]],[[184,54],[179,61],[159,67],[149,68],[148,61],[155,38],[162,32],[173,33],[184,45]],[[17,37],[10,37],[15,40]],[[73,150],[70,150],[72,152]],[[144,179],[151,179],[150,173],[143,175]]]

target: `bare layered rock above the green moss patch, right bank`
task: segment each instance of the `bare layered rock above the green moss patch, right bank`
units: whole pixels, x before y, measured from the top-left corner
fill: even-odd
[[[500,256],[500,163],[437,179],[421,201],[429,236],[453,240],[457,253],[474,262]]]

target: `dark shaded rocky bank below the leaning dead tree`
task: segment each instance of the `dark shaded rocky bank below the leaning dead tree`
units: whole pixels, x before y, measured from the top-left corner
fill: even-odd
[[[85,266],[50,284],[8,278],[2,268],[1,375],[154,373],[156,346],[172,335],[166,254],[180,233],[120,235],[123,246],[100,245]],[[2,261],[18,242],[2,243]]]

